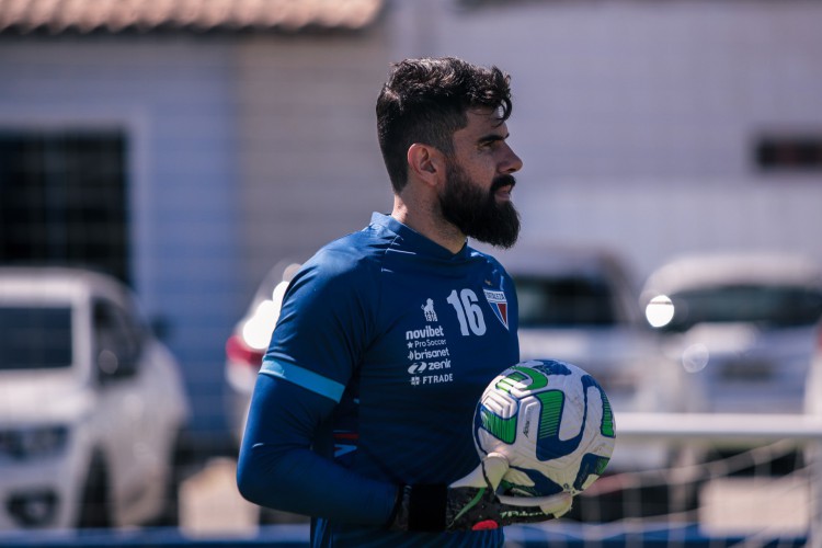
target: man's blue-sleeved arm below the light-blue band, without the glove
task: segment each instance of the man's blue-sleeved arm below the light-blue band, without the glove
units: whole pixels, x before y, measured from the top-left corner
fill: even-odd
[[[335,402],[287,380],[260,375],[237,467],[240,493],[261,506],[384,525],[397,486],[358,476],[313,453],[313,435]]]

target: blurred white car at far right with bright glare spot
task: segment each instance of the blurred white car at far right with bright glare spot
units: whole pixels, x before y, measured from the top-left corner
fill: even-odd
[[[694,411],[801,413],[822,317],[822,271],[786,253],[695,254],[642,290]],[[822,398],[822,392],[817,398]]]

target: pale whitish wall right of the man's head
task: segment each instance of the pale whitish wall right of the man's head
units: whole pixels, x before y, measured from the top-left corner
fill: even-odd
[[[698,250],[822,262],[822,174],[752,161],[763,133],[822,134],[822,4],[477,4],[399,3],[392,57],[457,55],[512,75],[523,238],[613,246],[640,274]]]

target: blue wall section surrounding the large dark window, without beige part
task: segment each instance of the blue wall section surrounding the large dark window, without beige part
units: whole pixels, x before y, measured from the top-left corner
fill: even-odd
[[[164,318],[194,396],[221,429],[222,347],[239,308],[230,42],[4,37],[0,127],[123,128],[135,289]]]

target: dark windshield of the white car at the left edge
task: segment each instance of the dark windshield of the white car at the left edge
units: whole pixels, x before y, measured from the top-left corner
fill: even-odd
[[[0,307],[0,370],[69,366],[69,307]]]

